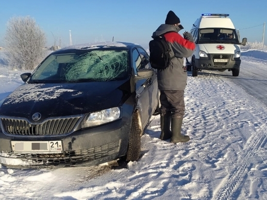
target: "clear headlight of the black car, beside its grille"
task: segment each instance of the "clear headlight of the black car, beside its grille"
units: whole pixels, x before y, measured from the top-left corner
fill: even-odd
[[[82,122],[82,128],[98,126],[111,121],[115,121],[121,117],[121,109],[119,107],[101,110],[95,113],[87,114]]]

